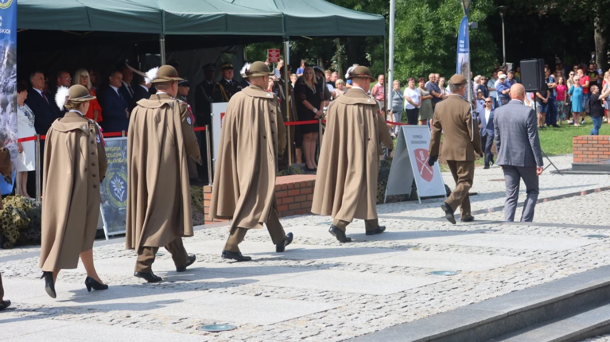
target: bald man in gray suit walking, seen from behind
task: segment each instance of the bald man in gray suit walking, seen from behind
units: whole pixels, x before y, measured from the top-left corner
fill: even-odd
[[[538,139],[536,112],[523,105],[525,88],[519,83],[511,86],[511,101],[495,110],[493,118],[497,164],[504,171],[506,201],[504,220],[515,220],[519,200],[519,183],[523,179],[527,197],[523,203],[521,222],[534,220],[538,200],[538,176],[542,174],[542,150]]]

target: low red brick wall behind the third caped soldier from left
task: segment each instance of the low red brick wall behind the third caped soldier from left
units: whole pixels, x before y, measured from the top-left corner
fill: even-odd
[[[276,178],[275,198],[280,217],[309,214],[314,200],[315,175],[292,175]],[[222,222],[209,218],[212,186],[203,187],[203,206],[206,223]]]

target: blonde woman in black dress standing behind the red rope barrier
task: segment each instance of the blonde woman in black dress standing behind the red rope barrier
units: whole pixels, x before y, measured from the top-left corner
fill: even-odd
[[[324,92],[318,87],[314,69],[308,66],[296,82],[296,113],[300,120],[317,120],[322,116]],[[315,143],[318,139],[318,124],[300,125],[303,133],[303,156],[307,170],[315,171]]]

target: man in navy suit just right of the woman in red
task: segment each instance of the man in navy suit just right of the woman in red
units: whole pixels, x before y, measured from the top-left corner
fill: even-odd
[[[119,88],[123,85],[123,73],[110,73],[109,85],[99,94],[99,105],[102,106],[104,120],[101,125],[106,132],[126,131],[129,128],[129,111],[127,100],[121,95]]]

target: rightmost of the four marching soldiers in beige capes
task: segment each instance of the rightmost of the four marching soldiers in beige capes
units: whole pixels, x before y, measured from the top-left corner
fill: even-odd
[[[371,72],[365,66],[352,67],[346,78],[352,87],[326,112],[311,209],[334,218],[328,231],[340,242],[351,241],[345,231],[354,218],[365,220],[367,235],[386,230],[377,218],[379,139],[386,147],[393,147],[377,102],[365,92],[375,80]]]

